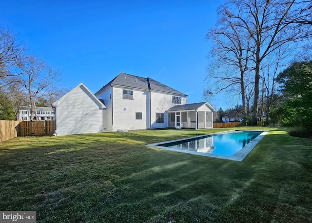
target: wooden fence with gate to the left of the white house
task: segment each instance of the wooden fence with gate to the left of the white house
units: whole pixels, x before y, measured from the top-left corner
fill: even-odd
[[[0,142],[17,136],[52,135],[55,121],[7,121],[0,120]]]

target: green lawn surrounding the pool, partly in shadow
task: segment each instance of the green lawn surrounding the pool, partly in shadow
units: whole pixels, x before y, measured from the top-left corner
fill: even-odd
[[[230,128],[17,137],[0,143],[0,210],[36,210],[38,223],[312,222],[312,140],[262,129],[242,162],[145,146]]]

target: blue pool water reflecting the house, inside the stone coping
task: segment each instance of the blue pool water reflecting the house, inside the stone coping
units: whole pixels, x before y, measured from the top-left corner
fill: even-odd
[[[181,151],[233,156],[261,133],[262,131],[233,131],[157,145]]]

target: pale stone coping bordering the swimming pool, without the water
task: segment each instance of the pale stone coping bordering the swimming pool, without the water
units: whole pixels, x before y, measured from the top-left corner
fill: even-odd
[[[200,152],[195,152],[195,151],[190,151],[190,150],[181,150],[181,149],[169,148],[166,146],[159,146],[159,144],[165,144],[165,143],[170,143],[170,142],[179,142],[179,141],[183,141],[183,140],[191,140],[191,139],[195,139],[195,138],[199,138],[199,137],[206,137],[206,136],[216,136],[216,135],[221,135],[221,134],[235,132],[235,131],[253,131],[253,132],[261,132],[261,134],[258,135],[256,138],[254,138],[254,140],[249,142],[242,149],[237,151],[233,156],[223,156],[223,155],[216,155],[216,154],[211,154],[211,153],[200,153]],[[262,140],[262,138],[268,132],[269,132],[269,130],[229,130],[229,131],[224,131],[224,132],[217,132],[217,133],[212,133],[212,134],[207,134],[207,135],[193,136],[193,137],[177,139],[177,140],[170,140],[170,141],[165,141],[165,142],[156,142],[156,143],[147,144],[146,146],[150,146],[150,147],[154,147],[154,148],[158,148],[158,149],[170,150],[170,151],[174,151],[174,152],[180,152],[180,153],[189,153],[189,154],[199,155],[199,156],[214,157],[214,158],[220,158],[220,159],[232,160],[232,161],[242,161],[254,149],[256,144],[258,144],[258,142],[260,142],[260,140]]]

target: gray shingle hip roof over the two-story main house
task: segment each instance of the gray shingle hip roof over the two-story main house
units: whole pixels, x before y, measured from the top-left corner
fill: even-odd
[[[183,97],[188,96],[186,94],[183,94],[182,92],[177,91],[176,89],[173,89],[151,78],[142,78],[139,76],[126,74],[126,73],[120,73],[116,78],[114,78],[112,81],[107,83],[99,91],[101,91],[102,89],[106,88],[109,85],[119,85],[119,86],[124,86],[124,87],[142,89],[142,90],[160,91],[160,92],[170,93],[173,95],[183,96]]]

